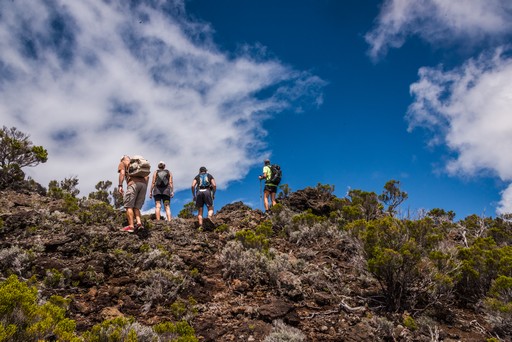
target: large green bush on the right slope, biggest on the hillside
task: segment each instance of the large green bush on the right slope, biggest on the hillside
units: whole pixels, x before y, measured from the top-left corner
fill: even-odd
[[[452,292],[456,275],[447,272],[457,266],[452,265],[454,257],[437,249],[440,238],[432,220],[384,217],[366,224],[355,221],[347,228],[360,235],[368,269],[379,281],[388,309],[407,309],[419,301],[426,305]]]

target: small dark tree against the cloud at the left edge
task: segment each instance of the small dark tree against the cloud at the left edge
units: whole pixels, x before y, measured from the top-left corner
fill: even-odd
[[[34,146],[29,136],[15,127],[3,126],[0,130],[0,189],[6,189],[25,179],[21,170],[48,160],[48,152],[42,146]]]

